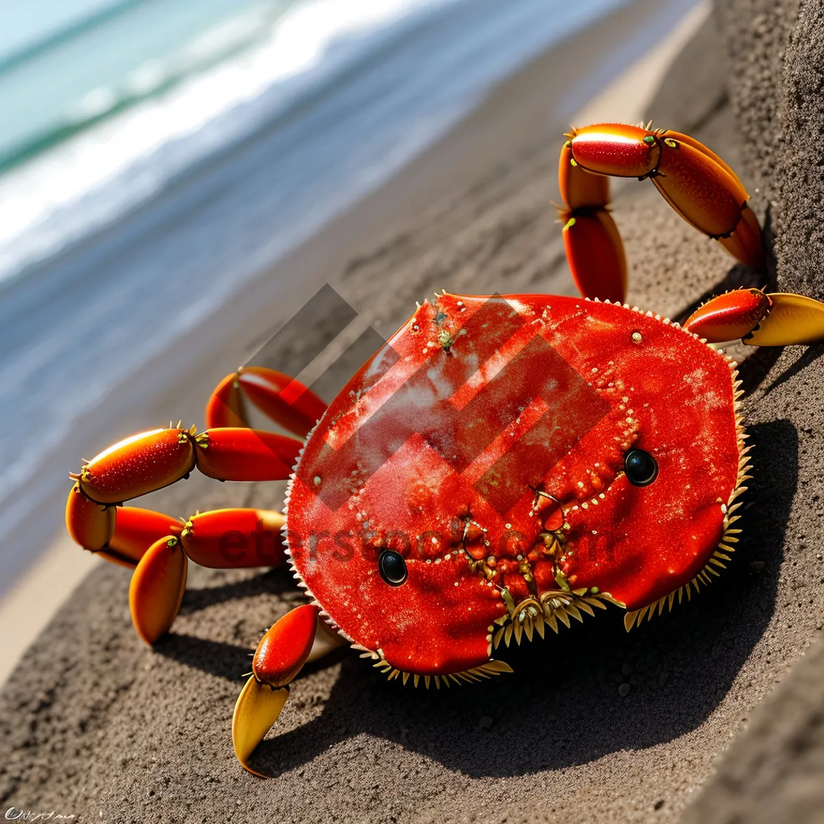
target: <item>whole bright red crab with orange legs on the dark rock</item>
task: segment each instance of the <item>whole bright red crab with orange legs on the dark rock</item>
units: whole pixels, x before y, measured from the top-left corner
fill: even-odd
[[[621,124],[567,138],[563,236],[582,297],[440,293],[328,406],[281,372],[241,368],[213,391],[204,432],[139,433],[72,475],[68,531],[133,569],[147,644],[175,620],[189,560],[291,565],[307,603],[260,641],[232,720],[250,772],[290,683],[336,643],[390,680],[480,681],[511,672],[495,656],[547,628],[618,610],[629,631],[672,610],[734,550],[750,464],[737,364],[717,344],[812,343],[824,304],[739,289],[683,325],[630,307],[610,176],[650,178],[754,269],[761,229],[735,173],[694,138]],[[250,428],[248,403],[291,434]],[[286,505],[185,522],[123,505],[195,468],[288,480]]]

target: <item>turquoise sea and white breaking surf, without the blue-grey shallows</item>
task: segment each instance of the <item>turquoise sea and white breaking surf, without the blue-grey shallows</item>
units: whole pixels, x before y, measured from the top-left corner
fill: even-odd
[[[0,281],[116,220],[452,2],[82,0],[62,29],[0,51]]]

